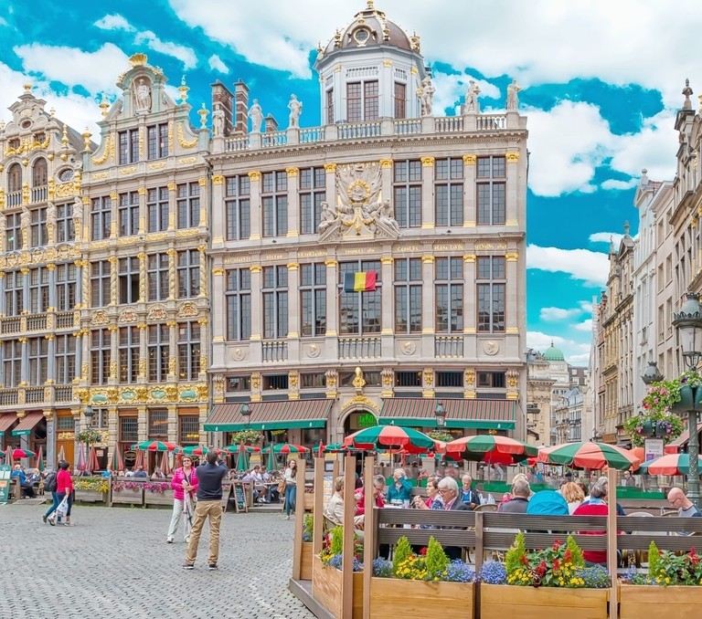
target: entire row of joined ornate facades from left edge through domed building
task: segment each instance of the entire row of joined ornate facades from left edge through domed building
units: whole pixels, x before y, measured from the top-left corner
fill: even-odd
[[[27,86],[0,125],[0,445],[75,462],[91,427],[104,467],[247,427],[431,429],[439,404],[524,438],[527,119],[516,82],[439,115],[420,46],[368,2],[317,50],[317,127],[242,82],[194,114],[143,54],[99,136]]]

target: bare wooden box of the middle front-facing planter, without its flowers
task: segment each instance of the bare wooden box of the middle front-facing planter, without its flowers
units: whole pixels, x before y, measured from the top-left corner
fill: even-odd
[[[535,589],[481,583],[480,616],[482,619],[607,619],[608,593],[607,589]]]

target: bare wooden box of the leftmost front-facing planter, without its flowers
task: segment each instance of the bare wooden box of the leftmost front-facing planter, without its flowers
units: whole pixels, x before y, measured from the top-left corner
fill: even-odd
[[[426,619],[431,614],[431,610],[427,612],[428,608],[436,604],[434,609],[441,609],[442,616],[473,619],[474,592],[473,582],[371,578],[370,616],[373,619]]]

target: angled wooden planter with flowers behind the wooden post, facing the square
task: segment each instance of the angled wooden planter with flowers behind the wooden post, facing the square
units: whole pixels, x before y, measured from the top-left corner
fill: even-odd
[[[336,619],[342,619],[342,549],[344,546],[344,529],[335,527],[324,540],[324,549],[313,558],[312,592],[314,599]],[[363,616],[363,546],[360,540],[354,540],[354,574],[353,574],[353,616],[343,619],[360,619]]]

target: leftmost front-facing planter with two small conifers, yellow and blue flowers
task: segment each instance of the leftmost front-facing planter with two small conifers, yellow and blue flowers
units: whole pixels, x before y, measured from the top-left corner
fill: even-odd
[[[473,617],[475,572],[461,560],[450,561],[433,537],[420,554],[401,537],[393,561],[373,561],[370,579],[370,616],[374,619],[424,619],[428,601],[447,616]],[[431,614],[431,613],[430,613]]]

